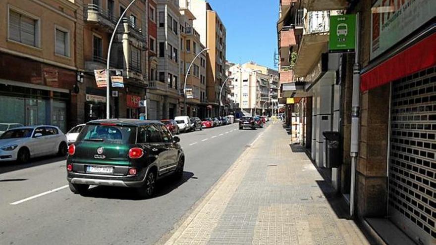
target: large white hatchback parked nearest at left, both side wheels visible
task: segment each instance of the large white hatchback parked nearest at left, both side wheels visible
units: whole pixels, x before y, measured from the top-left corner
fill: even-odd
[[[55,126],[28,126],[10,129],[0,136],[0,162],[29,161],[36,156],[66,155],[66,136]]]

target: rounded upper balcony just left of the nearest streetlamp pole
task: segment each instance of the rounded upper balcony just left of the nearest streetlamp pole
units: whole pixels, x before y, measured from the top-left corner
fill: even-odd
[[[84,20],[88,24],[103,27],[105,31],[111,32],[115,28],[118,18],[99,5],[87,4],[84,6]]]

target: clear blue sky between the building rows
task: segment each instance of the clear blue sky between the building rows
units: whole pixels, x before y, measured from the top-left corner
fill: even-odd
[[[227,60],[274,68],[278,0],[208,0],[227,30]]]

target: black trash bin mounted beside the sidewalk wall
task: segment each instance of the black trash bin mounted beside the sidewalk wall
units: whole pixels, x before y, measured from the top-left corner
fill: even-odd
[[[339,132],[324,131],[323,135],[326,139],[326,167],[337,168],[341,165],[341,152],[339,148]]]

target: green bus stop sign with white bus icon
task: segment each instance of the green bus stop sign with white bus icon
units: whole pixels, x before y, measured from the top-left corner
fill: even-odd
[[[356,15],[330,15],[328,50],[352,52],[356,47]]]

